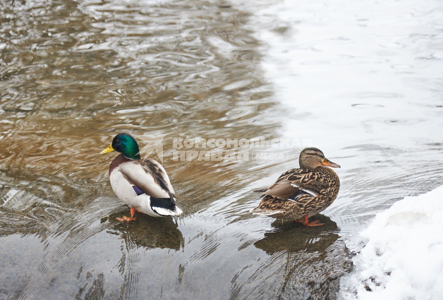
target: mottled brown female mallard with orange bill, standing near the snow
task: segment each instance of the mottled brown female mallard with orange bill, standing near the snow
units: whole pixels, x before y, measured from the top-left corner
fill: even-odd
[[[264,198],[251,212],[277,219],[292,219],[304,226],[323,225],[319,221],[309,223],[308,218],[326,209],[337,198],[340,180],[326,166],[340,166],[330,162],[317,148],[303,149],[299,164],[300,168],[284,172],[269,188],[255,190],[264,192]]]

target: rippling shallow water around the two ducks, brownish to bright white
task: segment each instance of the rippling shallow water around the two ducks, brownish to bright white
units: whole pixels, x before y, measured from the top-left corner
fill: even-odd
[[[344,240],[443,182],[441,1],[0,6],[0,299],[334,299]],[[165,135],[178,219],[115,219],[121,131]],[[310,139],[342,166],[326,224],[248,212],[300,149],[174,161],[180,137]]]

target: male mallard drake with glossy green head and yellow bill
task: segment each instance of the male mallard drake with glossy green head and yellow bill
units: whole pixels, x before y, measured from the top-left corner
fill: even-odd
[[[121,154],[109,166],[109,181],[117,197],[131,208],[130,218],[123,216],[118,220],[135,220],[135,210],[154,217],[182,213],[175,204],[174,188],[165,169],[153,159],[140,159],[139,147],[132,135],[119,133],[100,154],[114,150]]]

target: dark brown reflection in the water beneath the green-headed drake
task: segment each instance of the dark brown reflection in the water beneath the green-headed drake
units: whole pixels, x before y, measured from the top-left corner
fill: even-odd
[[[140,215],[137,222],[121,223],[116,220],[118,213],[109,216],[112,224],[109,233],[120,235],[126,245],[137,245],[146,248],[168,248],[180,250],[184,238],[178,224],[172,218],[155,218]]]

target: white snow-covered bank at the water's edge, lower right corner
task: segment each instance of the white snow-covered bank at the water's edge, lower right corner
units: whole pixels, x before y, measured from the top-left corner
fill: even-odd
[[[442,299],[443,186],[397,201],[353,242],[365,246],[339,299]]]

